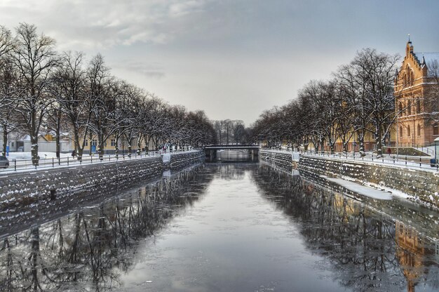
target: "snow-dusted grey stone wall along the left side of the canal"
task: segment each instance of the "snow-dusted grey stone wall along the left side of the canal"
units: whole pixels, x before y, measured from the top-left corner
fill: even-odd
[[[4,175],[0,177],[0,210],[50,200],[50,192],[55,192],[58,205],[63,200],[83,203],[102,195],[109,197],[156,178],[165,169],[184,168],[202,162],[203,158],[201,151],[183,152],[171,155],[168,164],[163,164],[161,157],[149,157]]]

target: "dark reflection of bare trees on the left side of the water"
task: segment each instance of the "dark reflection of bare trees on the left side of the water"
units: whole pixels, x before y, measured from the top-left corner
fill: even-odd
[[[200,172],[203,171],[203,175]],[[111,291],[133,268],[140,239],[199,199],[213,171],[194,168],[95,208],[6,237],[0,291]]]

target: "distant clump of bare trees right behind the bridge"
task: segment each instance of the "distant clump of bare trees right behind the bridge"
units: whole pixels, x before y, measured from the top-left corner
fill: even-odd
[[[241,120],[214,121],[215,135],[219,144],[243,144],[250,140],[250,128]]]

